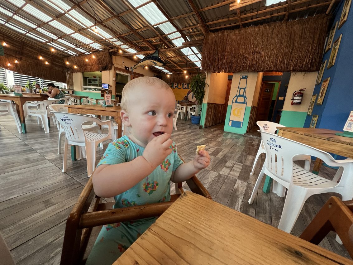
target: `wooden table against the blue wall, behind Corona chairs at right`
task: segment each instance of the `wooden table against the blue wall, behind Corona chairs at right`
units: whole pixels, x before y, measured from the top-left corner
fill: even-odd
[[[277,127],[278,135],[296,142],[304,143],[343,157],[353,158],[353,138],[336,135],[342,131],[319,128],[294,128],[294,127]],[[318,174],[322,160],[317,158],[313,167],[313,173]],[[267,176],[263,191],[269,192],[269,184],[271,179]]]

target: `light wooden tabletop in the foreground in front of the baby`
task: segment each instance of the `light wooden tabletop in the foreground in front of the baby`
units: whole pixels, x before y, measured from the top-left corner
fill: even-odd
[[[198,194],[185,192],[113,265],[353,264]]]

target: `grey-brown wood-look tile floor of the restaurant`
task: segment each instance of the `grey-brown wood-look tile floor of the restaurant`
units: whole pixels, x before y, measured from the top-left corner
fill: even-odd
[[[51,125],[50,133],[45,134],[36,119],[29,117],[28,133],[19,134],[12,117],[0,117],[0,232],[18,265],[60,263],[66,218],[88,181],[85,159],[72,162],[70,153],[67,172],[61,172],[63,156],[57,151],[58,130],[52,121]],[[173,130],[172,139],[186,161],[193,159],[197,145],[207,145],[211,163],[197,177],[215,201],[278,225],[284,198],[259,189],[253,204],[248,204],[260,172],[258,164],[255,174],[250,175],[259,139],[226,133],[223,125],[199,130],[179,126]],[[103,151],[98,149],[97,160]],[[263,163],[264,155],[261,160]],[[334,173],[323,166],[320,175],[332,178]],[[292,234],[300,235],[331,195],[310,197]],[[333,233],[320,245],[349,257]]]

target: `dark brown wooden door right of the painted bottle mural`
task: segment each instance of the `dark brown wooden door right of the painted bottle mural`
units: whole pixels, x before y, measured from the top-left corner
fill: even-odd
[[[267,120],[270,112],[273,90],[275,84],[263,82],[260,91],[260,97],[257,104],[256,121]]]

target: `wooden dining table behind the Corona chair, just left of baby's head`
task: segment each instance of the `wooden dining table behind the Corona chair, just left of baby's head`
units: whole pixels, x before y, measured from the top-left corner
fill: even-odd
[[[101,116],[114,117],[115,122],[118,124],[118,138],[122,136],[120,107],[118,106],[104,107],[102,105],[65,105],[65,107],[68,108],[69,113],[73,113],[73,114],[93,114],[93,115],[97,115],[99,119],[101,118]],[[71,153],[72,153],[71,159],[76,160],[76,149],[71,148]]]

